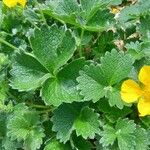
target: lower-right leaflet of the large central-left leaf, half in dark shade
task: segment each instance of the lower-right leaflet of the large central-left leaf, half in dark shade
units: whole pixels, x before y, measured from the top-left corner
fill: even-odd
[[[77,59],[65,66],[57,74],[56,78],[48,79],[44,83],[41,91],[44,101],[54,106],[58,106],[63,102],[71,103],[73,101],[82,101],[76,88],[76,78],[84,64],[84,59]]]

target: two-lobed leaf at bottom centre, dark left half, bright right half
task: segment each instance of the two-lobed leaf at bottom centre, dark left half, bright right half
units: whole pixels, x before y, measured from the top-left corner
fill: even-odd
[[[57,132],[57,138],[64,143],[70,139],[73,130],[85,139],[93,138],[99,132],[98,115],[80,103],[59,106],[54,111],[52,122],[52,130]]]

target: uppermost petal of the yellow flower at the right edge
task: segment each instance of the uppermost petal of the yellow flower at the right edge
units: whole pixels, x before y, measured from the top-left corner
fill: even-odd
[[[139,73],[139,80],[144,85],[150,85],[150,66],[143,66]]]

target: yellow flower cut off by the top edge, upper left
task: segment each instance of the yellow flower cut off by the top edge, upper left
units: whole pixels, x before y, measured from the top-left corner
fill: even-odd
[[[25,7],[27,0],[3,0],[3,3],[11,8],[15,7],[17,4],[20,4],[22,7]]]

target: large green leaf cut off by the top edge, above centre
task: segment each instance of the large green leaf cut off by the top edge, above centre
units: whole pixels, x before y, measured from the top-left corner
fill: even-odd
[[[106,8],[109,2],[110,0],[81,0],[79,4],[75,0],[51,1],[47,2],[49,8],[46,7],[43,12],[61,22],[101,32],[112,26],[114,16]]]

